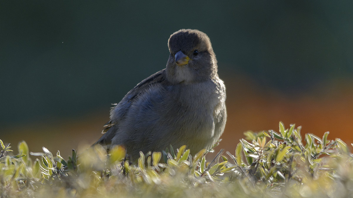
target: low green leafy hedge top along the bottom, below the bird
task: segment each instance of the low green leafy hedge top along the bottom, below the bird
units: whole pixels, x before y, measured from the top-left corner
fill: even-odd
[[[29,152],[24,141],[13,155],[0,140],[0,197],[353,197],[346,143],[300,129],[280,122],[278,133],[245,132],[235,153],[211,161],[186,146],[129,162],[123,147],[96,145],[64,159],[45,147]]]

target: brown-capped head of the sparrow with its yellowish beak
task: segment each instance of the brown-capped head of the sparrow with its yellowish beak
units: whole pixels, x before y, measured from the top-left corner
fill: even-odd
[[[208,36],[182,29],[170,35],[167,78],[172,83],[200,82],[217,75],[217,60]]]

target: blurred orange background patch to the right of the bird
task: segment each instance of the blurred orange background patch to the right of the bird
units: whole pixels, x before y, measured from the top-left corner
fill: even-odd
[[[301,135],[319,137],[327,131],[329,139],[353,142],[353,89],[350,81],[335,81],[306,92],[284,95],[237,76],[226,81],[228,120],[222,135],[222,148],[234,153],[238,139],[246,130],[254,132],[273,129],[279,122],[303,126]]]

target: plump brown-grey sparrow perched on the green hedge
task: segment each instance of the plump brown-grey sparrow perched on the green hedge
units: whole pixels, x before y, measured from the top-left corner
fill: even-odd
[[[138,83],[110,110],[95,143],[121,145],[130,159],[186,145],[190,154],[211,149],[226,120],[226,87],[207,34],[181,29],[168,39],[166,68]],[[94,145],[95,145],[94,144]]]

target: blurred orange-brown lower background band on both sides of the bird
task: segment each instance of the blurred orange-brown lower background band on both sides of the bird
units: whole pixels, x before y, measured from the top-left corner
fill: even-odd
[[[303,126],[302,135],[314,133],[322,137],[329,131],[329,139],[341,138],[347,144],[353,142],[353,91],[350,81],[330,82],[310,92],[284,95],[246,76],[222,79],[227,87],[228,119],[216,151],[223,148],[234,153],[239,139],[244,138],[243,132],[269,129],[278,132],[280,121],[286,128],[291,123]],[[0,139],[4,143],[12,143],[13,148],[25,140],[32,152],[41,152],[44,146],[53,153],[60,150],[61,155],[67,157],[72,148],[91,145],[98,140],[108,119],[109,109],[92,110],[90,114],[58,118],[55,122],[38,121],[7,127],[4,129],[6,135],[1,135]]]

